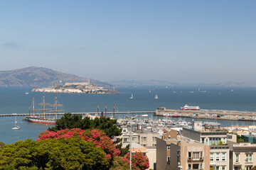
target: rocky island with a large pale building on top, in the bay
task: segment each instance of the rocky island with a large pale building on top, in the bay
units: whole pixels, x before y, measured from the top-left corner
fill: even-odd
[[[87,82],[66,82],[65,85],[49,86],[46,88],[33,87],[34,92],[63,93],[63,94],[119,94],[116,89],[103,89]]]

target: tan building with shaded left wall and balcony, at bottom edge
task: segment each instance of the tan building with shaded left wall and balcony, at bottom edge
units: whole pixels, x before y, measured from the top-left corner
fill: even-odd
[[[156,169],[210,169],[210,146],[177,137],[171,130],[156,142]]]

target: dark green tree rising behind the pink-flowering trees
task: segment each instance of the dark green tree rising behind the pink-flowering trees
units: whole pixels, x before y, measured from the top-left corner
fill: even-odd
[[[82,118],[82,115],[65,113],[60,120],[56,121],[56,125],[53,128],[48,128],[48,130],[57,132],[58,130],[73,128],[79,128],[82,130],[100,129],[103,130],[108,137],[113,138],[114,136],[122,135],[122,129],[118,128],[116,123],[116,119],[100,117],[93,120],[89,117]]]

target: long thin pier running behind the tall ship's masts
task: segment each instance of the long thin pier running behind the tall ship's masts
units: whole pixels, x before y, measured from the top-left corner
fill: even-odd
[[[91,113],[71,113],[73,115],[118,115],[118,114],[155,114],[156,111],[128,111],[128,112],[106,112],[106,113],[97,113],[97,112],[91,112]],[[35,115],[42,115],[43,113],[36,113]],[[64,115],[65,113],[57,113],[57,115]],[[9,116],[27,116],[31,115],[29,113],[11,113],[11,114],[0,114],[0,117],[9,117]],[[56,115],[56,113],[46,113],[46,115]]]

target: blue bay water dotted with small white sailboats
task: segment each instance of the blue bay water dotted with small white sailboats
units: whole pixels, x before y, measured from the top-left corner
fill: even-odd
[[[206,93],[198,92],[198,88]],[[31,89],[31,87],[0,87],[0,114],[28,113],[32,98],[35,98],[36,103],[41,103],[43,94],[31,92]],[[113,105],[115,111],[155,111],[158,107],[180,109],[185,104],[208,110],[256,112],[255,87],[168,86],[166,89],[166,86],[129,86],[117,90],[120,94],[58,94],[58,101],[64,105],[65,112],[96,112],[97,103],[100,112],[105,111],[105,105],[107,111],[112,111]],[[25,94],[27,91],[28,95]],[[129,98],[131,94],[134,96],[133,99]],[[158,100],[154,99],[156,94],[159,96]],[[55,94],[45,96],[46,103],[54,103]],[[117,118],[123,116],[117,115]],[[150,115],[150,118],[160,117]],[[14,126],[14,117],[0,118],[1,142],[9,144],[27,138],[36,140],[40,132],[46,131],[51,126],[28,123],[21,117],[16,119],[21,126],[20,130],[11,129]],[[219,120],[219,122],[222,126],[255,125],[253,122],[243,121]]]

